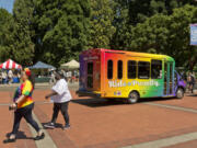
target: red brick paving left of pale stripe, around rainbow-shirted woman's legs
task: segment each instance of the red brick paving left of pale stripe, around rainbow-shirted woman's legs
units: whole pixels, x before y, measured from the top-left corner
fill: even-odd
[[[24,119],[21,122],[16,143],[3,144],[3,140],[7,138],[5,135],[12,130],[13,111],[9,111],[8,109],[8,104],[11,103],[10,92],[1,92],[0,96],[0,148],[36,148]]]

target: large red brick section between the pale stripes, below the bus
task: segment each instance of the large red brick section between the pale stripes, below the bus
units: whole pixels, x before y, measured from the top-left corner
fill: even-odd
[[[69,110],[72,128],[66,134],[77,147],[123,147],[197,130],[197,121],[194,121],[196,114],[72,95]],[[50,118],[51,104],[37,107]],[[39,115],[38,118],[47,122]],[[63,124],[61,114],[58,123]]]

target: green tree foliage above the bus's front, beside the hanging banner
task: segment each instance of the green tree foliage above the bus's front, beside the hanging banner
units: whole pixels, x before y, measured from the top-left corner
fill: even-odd
[[[170,55],[177,66],[193,69],[197,50],[189,45],[189,24],[195,22],[197,8],[193,5],[175,9],[172,15],[158,13],[131,26],[124,35],[124,45],[129,50]]]

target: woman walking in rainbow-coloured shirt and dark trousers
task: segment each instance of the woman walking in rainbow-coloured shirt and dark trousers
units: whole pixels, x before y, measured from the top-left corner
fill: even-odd
[[[34,107],[32,93],[34,90],[35,81],[33,79],[31,70],[27,68],[24,69],[24,71],[22,71],[21,77],[23,83],[16,89],[13,99],[13,104],[10,105],[10,110],[14,110],[13,129],[10,137],[7,140],[4,140],[4,143],[14,143],[16,140],[16,133],[19,130],[22,117],[24,117],[26,122],[30,123],[37,132],[37,136],[34,138],[34,140],[39,140],[45,137],[45,134],[42,132],[42,129],[38,127],[37,123],[34,121],[32,116],[32,111]]]

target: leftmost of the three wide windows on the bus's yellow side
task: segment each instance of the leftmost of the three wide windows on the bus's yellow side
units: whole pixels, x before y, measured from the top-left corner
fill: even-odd
[[[136,70],[137,70],[136,65],[137,64],[135,60],[128,60],[128,62],[127,62],[127,77],[128,77],[128,79],[136,79]]]

